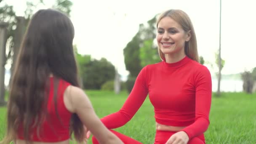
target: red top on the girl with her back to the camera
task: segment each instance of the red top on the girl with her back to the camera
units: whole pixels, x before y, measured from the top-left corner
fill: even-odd
[[[64,105],[64,91],[70,84],[64,80],[59,81],[57,93],[57,111],[60,117],[56,115],[54,100],[53,100],[53,77],[50,78],[50,91],[47,105],[48,117],[43,121],[40,127],[39,137],[37,136],[37,129],[34,128],[29,135],[32,141],[43,142],[58,142],[69,139],[69,123],[71,119],[71,112],[67,110]],[[23,125],[19,128],[19,139],[24,139]]]

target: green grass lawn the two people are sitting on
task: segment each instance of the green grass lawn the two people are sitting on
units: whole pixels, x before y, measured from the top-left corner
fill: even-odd
[[[107,91],[85,91],[96,114],[104,117],[122,107],[128,93],[119,95]],[[6,108],[0,108],[0,139],[5,133]],[[256,144],[256,94],[222,93],[213,96],[210,126],[205,132],[207,144]],[[139,111],[126,125],[115,129],[143,144],[152,144],[155,139],[153,107],[147,98]],[[91,139],[89,139],[91,144]]]

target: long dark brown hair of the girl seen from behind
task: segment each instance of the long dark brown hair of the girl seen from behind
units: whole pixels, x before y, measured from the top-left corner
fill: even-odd
[[[42,117],[47,115],[43,109],[47,107],[48,92],[45,90],[50,74],[79,87],[73,38],[74,27],[65,14],[46,9],[37,11],[32,17],[12,74],[3,144],[17,139],[20,125],[24,127],[27,142],[31,141],[31,128],[37,126],[38,131]],[[70,135],[73,132],[77,141],[84,140],[83,123],[76,114],[71,118]]]

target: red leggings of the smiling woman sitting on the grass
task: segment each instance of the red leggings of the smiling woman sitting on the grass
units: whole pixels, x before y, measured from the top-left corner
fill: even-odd
[[[116,136],[119,137],[125,144],[142,144],[139,141],[136,141],[128,136],[123,135],[122,133],[118,133],[116,131],[110,130],[112,133],[114,133]],[[165,144],[166,141],[176,132],[174,131],[156,131],[155,135],[155,142],[154,144]],[[93,136],[92,137],[93,144],[99,144],[97,139]],[[194,137],[189,140],[188,144],[205,144],[205,138],[204,135],[200,135],[197,137]]]

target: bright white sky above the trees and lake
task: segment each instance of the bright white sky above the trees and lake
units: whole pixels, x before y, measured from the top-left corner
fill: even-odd
[[[24,15],[26,3],[5,0]],[[53,0],[44,0],[48,8]],[[125,70],[123,48],[139,29],[140,23],[168,9],[181,9],[191,18],[197,36],[199,55],[215,64],[219,49],[219,0],[73,0],[71,19],[75,26],[74,44],[78,52],[93,58],[107,58],[119,73]],[[221,57],[223,74],[243,72],[256,67],[254,0],[222,0]],[[208,66],[208,65],[207,65]],[[218,69],[212,69],[211,72]],[[216,68],[216,67],[215,67]]]

